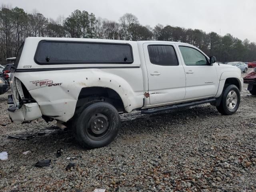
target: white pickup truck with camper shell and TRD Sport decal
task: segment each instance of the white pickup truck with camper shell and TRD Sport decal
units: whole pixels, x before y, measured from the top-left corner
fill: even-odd
[[[180,42],[27,38],[12,67],[8,112],[72,126],[86,148],[118,134],[121,112],[151,114],[210,103],[236,112],[241,71]]]

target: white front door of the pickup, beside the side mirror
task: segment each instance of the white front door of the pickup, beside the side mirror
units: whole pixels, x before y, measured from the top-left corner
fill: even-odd
[[[208,64],[206,56],[193,46],[176,46],[180,49],[186,72],[186,96],[184,100],[215,96],[219,85],[215,65]]]

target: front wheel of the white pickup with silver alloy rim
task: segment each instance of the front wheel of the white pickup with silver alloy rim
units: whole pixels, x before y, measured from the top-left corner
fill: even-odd
[[[224,90],[222,92],[222,100],[220,102],[220,105],[216,108],[218,112],[220,112],[222,115],[232,115],[238,110],[239,104],[239,89],[235,85],[228,85],[224,87]]]

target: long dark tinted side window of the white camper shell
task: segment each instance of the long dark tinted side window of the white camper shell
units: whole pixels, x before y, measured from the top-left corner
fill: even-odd
[[[133,62],[129,44],[108,44],[90,42],[39,42],[35,55],[38,64],[79,64]]]

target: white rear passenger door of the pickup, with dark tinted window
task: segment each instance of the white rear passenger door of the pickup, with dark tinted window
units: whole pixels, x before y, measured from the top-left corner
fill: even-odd
[[[143,49],[150,105],[182,101],[186,92],[186,77],[175,45],[145,43]]]

